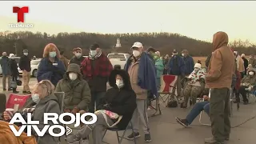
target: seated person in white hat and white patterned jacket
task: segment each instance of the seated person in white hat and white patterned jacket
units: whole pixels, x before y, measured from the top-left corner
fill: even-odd
[[[205,88],[205,77],[206,72],[205,70],[201,69],[201,64],[196,63],[194,65],[194,71],[190,74],[188,77],[189,82],[185,86],[185,88],[182,90],[182,96],[184,97],[184,102],[182,103],[182,108],[187,107],[187,102],[189,98],[191,98],[191,104],[194,105],[196,103],[196,100],[200,94],[202,94],[202,91]]]

